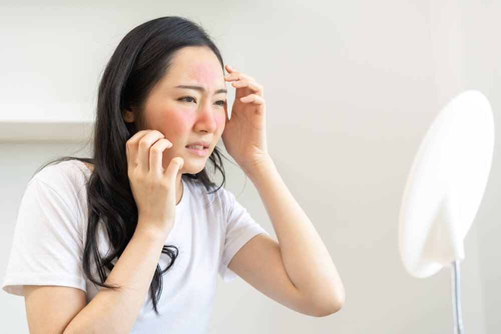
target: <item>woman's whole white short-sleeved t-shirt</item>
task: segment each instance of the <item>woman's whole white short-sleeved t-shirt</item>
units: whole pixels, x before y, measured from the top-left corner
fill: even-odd
[[[89,302],[99,286],[82,270],[87,231],[87,166],[64,161],[38,172],[25,189],[2,288],[23,295],[23,285],[80,288]],[[251,238],[266,232],[224,188],[207,194],[198,181],[181,178],[183,195],[176,205],[174,227],[165,240],[179,254],[163,274],[162,294],[153,311],[150,292],[131,333],[207,333],[217,273],[224,281],[236,274],[227,265]],[[102,225],[101,225],[102,226]],[[109,250],[107,235],[98,231],[101,254]],[[113,261],[116,263],[116,259]],[[164,269],[170,263],[160,256]],[[98,276],[96,276],[98,277]]]

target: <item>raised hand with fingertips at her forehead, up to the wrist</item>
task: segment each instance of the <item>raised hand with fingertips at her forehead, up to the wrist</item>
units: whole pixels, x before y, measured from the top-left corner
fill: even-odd
[[[236,88],[235,101],[221,135],[226,151],[244,172],[269,158],[266,144],[266,107],[263,86],[256,79],[226,65],[225,81]]]

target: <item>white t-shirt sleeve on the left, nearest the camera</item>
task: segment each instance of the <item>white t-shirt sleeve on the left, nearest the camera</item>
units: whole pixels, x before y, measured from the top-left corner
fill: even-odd
[[[74,198],[71,186],[43,179],[36,175],[25,189],[2,288],[17,295],[24,294],[23,285],[61,285],[85,291],[81,233],[75,208],[67,204]]]

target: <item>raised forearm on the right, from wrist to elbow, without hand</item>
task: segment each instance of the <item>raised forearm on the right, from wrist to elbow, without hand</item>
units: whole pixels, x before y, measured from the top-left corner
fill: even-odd
[[[336,303],[341,307],[345,291],[329,251],[272,159],[246,170],[246,174],[256,186],[272,221],[291,281],[313,303]]]

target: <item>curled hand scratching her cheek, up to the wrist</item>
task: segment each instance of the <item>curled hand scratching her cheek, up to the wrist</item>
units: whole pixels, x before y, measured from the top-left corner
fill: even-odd
[[[175,183],[184,161],[175,157],[164,169],[163,151],[170,147],[172,143],[157,130],[138,131],[126,143],[127,175],[141,229],[168,233],[174,226]]]

